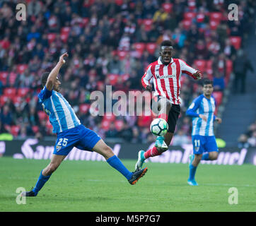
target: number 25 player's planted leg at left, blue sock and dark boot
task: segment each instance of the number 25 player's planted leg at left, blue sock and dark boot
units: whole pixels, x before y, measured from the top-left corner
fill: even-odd
[[[52,173],[59,167],[66,155],[52,155],[52,159],[49,165],[42,169],[37,179],[35,187],[31,191],[24,192],[22,196],[37,196],[38,192],[42,189],[45,183],[50,179]]]

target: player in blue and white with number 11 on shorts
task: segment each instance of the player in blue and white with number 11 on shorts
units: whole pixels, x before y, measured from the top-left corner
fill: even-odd
[[[187,109],[187,116],[192,117],[193,155],[190,155],[190,177],[187,183],[197,186],[194,175],[200,160],[216,160],[218,147],[214,136],[214,121],[221,123],[221,119],[214,115],[215,100],[213,81],[205,80],[203,94],[199,95]]]

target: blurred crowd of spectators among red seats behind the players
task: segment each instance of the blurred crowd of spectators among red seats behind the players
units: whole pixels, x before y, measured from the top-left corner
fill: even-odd
[[[112,85],[113,91],[142,91],[141,77],[158,59],[158,45],[172,40],[174,58],[212,78],[222,96],[255,8],[252,0],[30,0],[26,20],[18,21],[19,2],[0,1],[0,133],[54,136],[37,94],[42,73],[68,52],[60,71],[61,93],[78,118],[103,138],[132,143],[154,140],[149,131],[152,117],[93,116],[88,107],[91,92],[105,93],[105,85]],[[231,3],[238,4],[238,20],[228,20]],[[191,119],[185,111],[199,94],[199,83],[183,75],[173,145],[190,142]]]

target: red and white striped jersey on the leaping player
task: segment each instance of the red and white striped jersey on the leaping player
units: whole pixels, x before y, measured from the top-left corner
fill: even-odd
[[[180,105],[180,76],[181,73],[187,73],[193,76],[197,70],[187,65],[182,59],[171,59],[170,64],[164,65],[159,57],[157,61],[149,64],[141,78],[141,83],[146,88],[149,81],[153,78],[155,93],[153,96],[166,97],[174,105]]]

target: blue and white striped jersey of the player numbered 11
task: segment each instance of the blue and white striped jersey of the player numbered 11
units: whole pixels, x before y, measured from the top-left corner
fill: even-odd
[[[195,98],[187,109],[186,114],[192,119],[192,136],[214,136],[214,111],[215,111],[215,99],[211,96],[210,99],[204,97],[204,95],[199,95]],[[199,118],[199,114],[204,114],[207,121]]]

